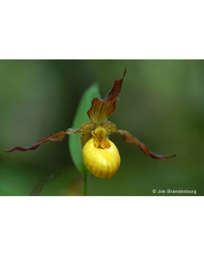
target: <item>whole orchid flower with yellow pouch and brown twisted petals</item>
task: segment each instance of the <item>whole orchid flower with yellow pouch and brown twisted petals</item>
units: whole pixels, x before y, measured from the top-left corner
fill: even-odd
[[[145,155],[154,159],[168,159],[174,157],[175,154],[166,156],[156,155],[150,152],[147,146],[140,142],[135,136],[127,131],[118,130],[114,123],[107,120],[115,110],[116,99],[120,93],[125,73],[126,69],[124,70],[122,79],[114,81],[113,88],[104,99],[96,97],[92,100],[91,108],[87,112],[90,119],[89,122],[83,123],[75,130],[70,128],[66,132],[50,134],[31,146],[14,147],[12,150],[5,150],[5,152],[35,150],[43,143],[61,141],[66,134],[75,135],[81,133],[84,164],[90,172],[98,178],[113,177],[120,166],[120,156],[117,147],[111,140],[106,138],[107,134],[118,133],[124,142],[135,144]]]

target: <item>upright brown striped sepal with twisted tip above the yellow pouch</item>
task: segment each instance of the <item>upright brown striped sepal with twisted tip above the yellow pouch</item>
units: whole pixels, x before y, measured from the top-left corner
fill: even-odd
[[[114,112],[116,106],[115,100],[120,93],[125,73],[126,69],[124,70],[122,79],[114,81],[113,88],[104,99],[94,98],[92,100],[91,109],[87,112],[90,120],[100,124]]]

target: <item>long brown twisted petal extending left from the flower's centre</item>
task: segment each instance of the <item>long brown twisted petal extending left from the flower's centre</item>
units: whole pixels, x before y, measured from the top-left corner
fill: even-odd
[[[54,142],[59,142],[64,139],[66,134],[69,135],[74,135],[76,133],[88,133],[91,132],[95,128],[95,124],[93,122],[87,122],[84,123],[80,126],[79,129],[73,130],[73,129],[68,129],[66,132],[60,132],[60,133],[54,133],[48,135],[44,139],[38,140],[36,143],[34,143],[31,146],[25,146],[25,147],[14,147],[12,150],[4,150],[5,152],[12,152],[12,151],[27,151],[27,150],[35,150],[37,147],[39,147],[41,144],[49,142],[49,141],[54,141]]]

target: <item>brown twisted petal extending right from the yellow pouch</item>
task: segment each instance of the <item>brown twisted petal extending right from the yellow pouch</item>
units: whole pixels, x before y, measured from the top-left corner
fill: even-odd
[[[135,136],[133,136],[133,135],[130,134],[129,132],[126,132],[126,131],[123,131],[123,130],[118,130],[117,132],[120,134],[120,136],[122,137],[122,140],[123,140],[123,141],[125,141],[125,142],[127,142],[127,143],[133,143],[133,144],[135,144],[135,145],[138,146],[138,147],[141,149],[141,151],[143,151],[144,154],[147,155],[147,156],[150,156],[150,157],[155,158],[155,159],[165,159],[165,158],[168,159],[168,158],[171,158],[171,157],[175,157],[175,156],[176,156],[176,154],[174,154],[174,155],[172,155],[172,156],[156,155],[156,154],[150,152],[150,151],[148,150],[148,147],[147,147],[144,143],[140,142]]]

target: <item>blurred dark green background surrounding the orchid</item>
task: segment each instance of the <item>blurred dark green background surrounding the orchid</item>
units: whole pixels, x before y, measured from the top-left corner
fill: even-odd
[[[29,146],[66,131],[90,84],[97,80],[104,98],[113,81],[122,78],[124,67],[126,76],[109,120],[155,154],[177,156],[155,160],[118,134],[111,135],[120,168],[111,179],[91,176],[88,195],[192,195],[167,194],[167,189],[204,195],[203,60],[1,60],[1,196],[27,196],[38,178],[56,169],[40,195],[82,195],[82,177],[71,161],[68,135],[35,151],[5,153],[4,148]],[[166,193],[154,194],[153,189]]]

